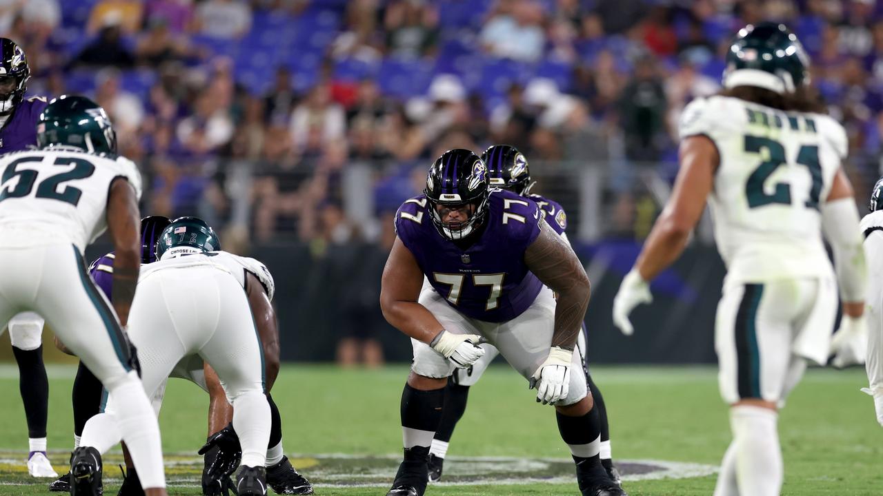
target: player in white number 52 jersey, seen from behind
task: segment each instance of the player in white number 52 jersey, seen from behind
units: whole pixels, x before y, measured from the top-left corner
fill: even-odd
[[[140,264],[138,169],[116,155],[116,135],[104,110],[79,96],[49,103],[40,116],[37,144],[39,150],[0,159],[0,322],[22,311],[38,312],[49,322],[125,404],[118,428],[143,486],[147,494],[165,494],[159,425],[145,415],[150,402],[120,326],[129,316]],[[113,308],[89,278],[82,256],[105,229],[120,267]],[[95,455],[89,447],[72,455],[72,494],[97,492],[102,467]]]

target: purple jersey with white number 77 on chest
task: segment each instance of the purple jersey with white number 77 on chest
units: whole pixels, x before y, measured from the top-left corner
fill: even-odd
[[[424,195],[405,201],[396,212],[396,234],[433,288],[472,319],[505,322],[525,312],[543,286],[525,264],[527,246],[540,236],[537,204],[491,192],[485,229],[465,250],[442,237],[429,208]]]

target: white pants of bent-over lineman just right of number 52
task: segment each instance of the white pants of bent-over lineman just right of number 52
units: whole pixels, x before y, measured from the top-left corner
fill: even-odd
[[[154,396],[186,357],[198,355],[215,369],[233,405],[242,463],[263,467],[270,435],[263,350],[245,290],[236,278],[206,266],[147,274],[138,283],[128,331],[138,349],[147,395]],[[99,451],[119,441],[104,418],[112,416],[117,405],[109,395],[105,413],[92,417],[83,431],[84,440],[97,439]]]

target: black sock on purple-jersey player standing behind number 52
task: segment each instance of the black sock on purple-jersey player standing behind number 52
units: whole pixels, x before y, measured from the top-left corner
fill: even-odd
[[[49,379],[43,365],[43,347],[18,349],[12,347],[12,354],[19,364],[19,391],[25,403],[27,436],[46,437],[46,416],[49,411]]]

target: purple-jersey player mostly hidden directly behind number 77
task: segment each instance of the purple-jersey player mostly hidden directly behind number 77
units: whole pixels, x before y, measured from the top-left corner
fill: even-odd
[[[540,214],[546,219],[548,226],[555,230],[555,233],[559,236],[567,240],[567,234],[564,232],[564,229],[567,228],[567,214],[564,213],[564,209],[555,200],[531,193],[531,188],[535,182],[531,180],[531,171],[524,154],[519,152],[516,147],[494,145],[488,147],[485,153],[481,154],[481,160],[485,162],[487,167],[487,176],[491,187],[508,190],[519,196],[532,199],[540,207]],[[424,282],[424,285],[426,285],[426,282]],[[600,417],[601,464],[608,471],[610,478],[619,483],[619,471],[616,470],[611,458],[607,408],[604,405],[604,398],[601,396],[600,390],[592,380],[592,376],[588,373],[588,365],[585,364],[585,324],[579,338],[577,350],[579,350],[580,356],[583,358],[585,380],[588,383],[589,390],[592,392],[595,408],[598,410]],[[434,482],[442,477],[444,457],[448,453],[448,444],[454,433],[454,428],[466,410],[469,388],[478,383],[482,373],[487,370],[487,366],[500,354],[494,346],[488,343],[482,344],[481,347],[485,349],[485,355],[479,358],[469,369],[455,369],[448,381],[448,387],[445,391],[442,423],[439,425],[438,430],[435,431],[433,445],[429,449],[430,481]]]

